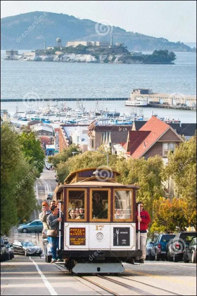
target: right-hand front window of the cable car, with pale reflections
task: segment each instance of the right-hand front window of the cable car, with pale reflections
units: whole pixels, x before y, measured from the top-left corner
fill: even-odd
[[[115,190],[114,220],[132,219],[132,191]]]

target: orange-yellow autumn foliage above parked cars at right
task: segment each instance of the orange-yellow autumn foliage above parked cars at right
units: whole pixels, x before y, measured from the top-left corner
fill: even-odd
[[[160,197],[154,200],[154,222],[151,226],[151,232],[172,233],[174,231],[186,230],[188,220],[185,216],[186,202],[182,199],[169,199]]]

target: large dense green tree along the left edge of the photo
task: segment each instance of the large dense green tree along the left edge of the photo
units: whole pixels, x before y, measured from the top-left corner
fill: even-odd
[[[11,226],[30,219],[36,205],[33,185],[37,171],[26,160],[19,135],[4,123],[1,125],[0,153],[1,233],[8,234]]]

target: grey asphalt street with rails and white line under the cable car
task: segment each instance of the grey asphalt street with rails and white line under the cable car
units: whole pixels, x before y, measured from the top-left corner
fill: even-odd
[[[38,203],[56,187],[55,173],[44,170],[36,181]],[[33,213],[33,219],[38,212]],[[42,247],[41,234],[18,233],[13,227],[8,238],[30,240]],[[41,257],[15,255],[1,262],[0,295],[197,295],[197,265],[184,262],[145,261],[144,264],[124,264],[119,276],[70,274],[63,264],[46,263]]]

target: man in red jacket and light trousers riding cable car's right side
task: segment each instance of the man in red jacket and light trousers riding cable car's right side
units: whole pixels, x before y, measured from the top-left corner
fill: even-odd
[[[140,205],[140,215],[138,215],[138,205]],[[141,257],[136,257],[135,262],[144,263],[144,259],[146,258],[146,239],[147,239],[147,229],[148,223],[151,222],[150,216],[147,211],[143,209],[143,202],[138,202],[136,204],[136,250],[138,249],[138,230],[140,230],[140,250],[142,251]],[[140,228],[138,229],[138,222],[140,222]]]

